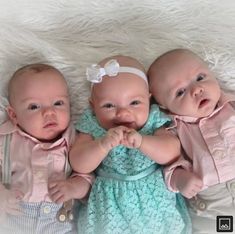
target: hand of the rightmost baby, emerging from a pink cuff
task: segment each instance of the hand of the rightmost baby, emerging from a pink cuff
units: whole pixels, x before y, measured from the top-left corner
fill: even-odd
[[[193,172],[176,169],[172,177],[174,187],[186,198],[194,197],[202,189],[202,180]]]

